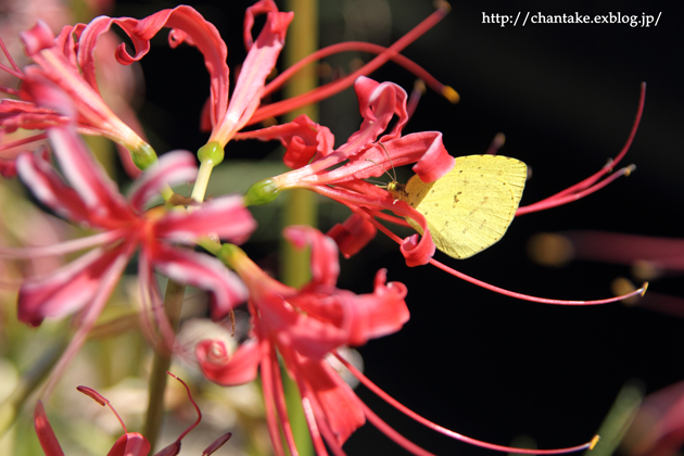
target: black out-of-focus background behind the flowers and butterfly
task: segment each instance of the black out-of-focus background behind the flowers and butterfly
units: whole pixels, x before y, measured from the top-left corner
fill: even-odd
[[[218,27],[235,68],[244,58],[242,18],[251,2],[190,3]],[[453,155],[482,153],[496,132],[505,132],[501,153],[524,161],[533,170],[522,205],[580,181],[615,156],[632,126],[639,83],[648,85],[643,121],[623,162],[636,164],[632,176],[579,202],[517,218],[502,242],[473,258],[458,262],[438,254],[439,259],[514,291],[592,300],[610,296],[611,280],[629,276],[629,267],[588,262],[539,266],[525,253],[532,235],[592,229],[680,236],[684,74],[682,15],[674,4],[454,2],[442,23],[404,51],[461,96],[460,103],[452,105],[428,92],[405,131],[443,131]],[[170,7],[119,2],[114,14],[142,17]],[[432,11],[428,1],[324,1],[321,46],[352,39],[388,46]],[[661,16],[650,28],[482,23],[483,12],[521,12],[522,21],[528,11]],[[349,72],[356,56],[330,62]],[[208,94],[199,52],[190,47],[170,51],[161,39],[142,67],[148,101],[141,115],[153,144],[157,150],[197,150],[206,139],[197,125]],[[407,90],[414,83],[410,74],[392,64],[371,76]],[[332,129],[338,144],[357,128],[352,89],[322,103],[320,123]],[[273,157],[274,148],[231,143],[227,159]],[[322,202],[320,213],[324,229],[346,215],[345,208],[328,202]],[[276,249],[269,236],[259,231],[246,246],[266,264]],[[638,379],[646,392],[653,392],[684,379],[681,319],[621,304],[566,307],[501,296],[431,266],[407,268],[397,246],[381,235],[358,257],[342,259],[339,286],[369,292],[382,267],[389,268],[390,280],[407,284],[411,319],[401,332],[360,349],[365,371],[408,407],[466,435],[499,444],[530,435],[542,448],[580,444],[597,431],[628,380]],[[682,295],[681,283],[676,276],[663,278],[650,290]],[[357,392],[382,418],[429,451],[492,454],[427,431],[365,389]],[[354,455],[403,454],[369,425],[345,449]]]

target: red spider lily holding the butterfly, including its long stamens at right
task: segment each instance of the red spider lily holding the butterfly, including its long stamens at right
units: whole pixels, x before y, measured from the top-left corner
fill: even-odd
[[[633,290],[624,296],[596,301],[543,299],[491,286],[433,259],[435,246],[422,214],[405,202],[396,201],[385,189],[364,179],[380,176],[393,166],[416,163],[413,170],[425,182],[431,182],[453,167],[454,159],[444,149],[442,134],[438,131],[402,136],[402,129],[408,118],[407,97],[402,88],[391,83],[378,84],[363,76],[356,80],[355,88],[364,122],[359,130],[335,150],[332,149],[333,137],[330,130],[315,124],[306,116],[300,116],[290,124],[240,135],[240,138],[279,139],[287,148],[284,163],[295,168],[252,186],[245,194],[248,205],[267,203],[282,190],[309,189],[346,204],[354,212],[354,215],[343,225],[333,227],[329,232],[338,241],[345,255],[351,256],[358,252],[373,238],[376,229],[380,229],[400,243],[408,266],[431,263],[448,274],[483,288],[528,301],[547,304],[592,305],[615,302],[645,291],[645,288],[642,288]],[[643,102],[644,90],[642,89],[636,121],[628,143],[616,161],[611,163],[617,163],[626,153],[641,118]],[[393,118],[396,118],[396,123],[389,132],[385,132]],[[621,169],[596,183],[609,170],[609,167],[605,167],[601,172],[567,191],[527,206],[527,211],[522,213],[541,211],[578,200],[604,187],[615,178],[628,174],[630,169]],[[402,218],[390,216],[381,211],[391,211]],[[410,217],[422,228],[423,236],[419,239],[418,235],[414,235],[401,240],[387,227],[379,224],[376,217],[400,225],[406,225],[404,217]]]

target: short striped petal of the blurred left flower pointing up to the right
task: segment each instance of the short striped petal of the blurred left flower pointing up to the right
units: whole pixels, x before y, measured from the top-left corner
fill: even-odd
[[[150,165],[128,191],[128,201],[137,211],[142,212],[144,205],[159,195],[165,185],[194,181],[198,167],[194,155],[188,151],[165,153]]]

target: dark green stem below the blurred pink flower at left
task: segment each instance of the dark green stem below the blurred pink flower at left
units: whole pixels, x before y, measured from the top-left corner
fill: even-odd
[[[178,322],[180,320],[180,311],[182,308],[182,300],[186,286],[174,280],[168,280],[166,284],[166,295],[164,296],[164,311],[168,321],[174,329],[178,331]],[[161,341],[154,350],[154,360],[152,362],[152,371],[150,372],[148,415],[145,418],[142,434],[150,441],[152,449],[159,439],[162,420],[164,418],[164,392],[166,391],[166,371],[170,367],[172,351]]]

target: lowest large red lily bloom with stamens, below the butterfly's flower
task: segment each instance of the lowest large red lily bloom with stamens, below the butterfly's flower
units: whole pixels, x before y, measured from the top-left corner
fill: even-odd
[[[332,239],[308,227],[290,227],[286,237],[297,246],[311,245],[313,279],[301,290],[287,287],[259,269],[242,251],[225,245],[221,257],[240,275],[248,289],[252,315],[250,338],[229,354],[219,340],[204,340],[195,354],[205,377],[223,385],[253,380],[261,369],[266,413],[277,455],[283,455],[280,435],[290,454],[296,454],[284,405],[278,354],[300,390],[302,405],[317,454],[337,455],[342,445],[368,419],[396,443],[417,455],[430,453],[415,445],[375,415],[331,367],[327,357],[338,356],[342,345],[362,345],[371,338],[393,333],[408,320],[403,283],[385,283],[385,270],[378,271],[375,291],[355,295],[334,287],[339,273],[338,250]],[[339,356],[338,356],[339,357]],[[340,358],[340,357],[339,357]],[[517,449],[466,438],[421,418],[375,387],[360,372],[352,373],[414,419],[479,446],[515,453],[558,454],[585,449],[595,442],[556,451]]]

